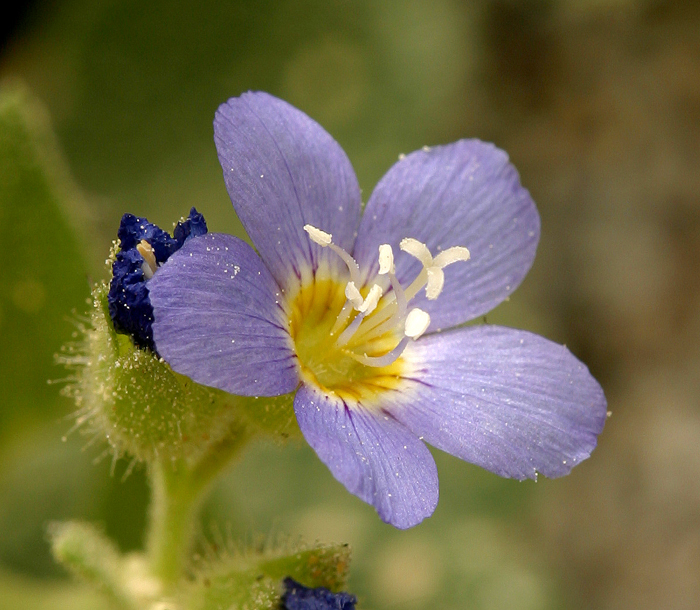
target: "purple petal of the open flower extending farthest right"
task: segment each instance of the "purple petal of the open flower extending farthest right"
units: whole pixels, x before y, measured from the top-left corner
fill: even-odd
[[[598,382],[566,347],[472,326],[423,337],[404,358],[415,384],[392,415],[453,455],[505,477],[567,474],[606,419]]]

